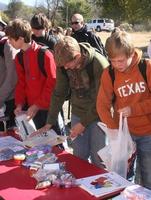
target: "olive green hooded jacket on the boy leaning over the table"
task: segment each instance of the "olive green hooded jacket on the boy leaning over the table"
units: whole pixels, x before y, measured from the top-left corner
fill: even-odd
[[[65,70],[61,69],[61,67],[57,67],[56,86],[51,99],[51,105],[47,119],[48,124],[55,124],[58,113],[61,110],[68,94],[69,88],[71,88],[72,114],[80,118],[82,125],[86,127],[93,121],[99,119],[96,112],[96,98],[102,71],[104,68],[109,66],[109,63],[104,56],[98,53],[88,43],[79,44],[81,48],[81,54],[85,57],[85,62],[81,69],[76,71]],[[86,70],[86,67],[90,67],[90,65],[92,65],[91,67],[93,69],[93,84],[90,83],[90,77]],[[77,82],[78,84],[76,84]],[[81,86],[79,83],[81,83]],[[83,90],[81,88],[85,89]],[[84,92],[85,95],[83,95],[82,92],[82,97],[81,94],[79,94],[81,91],[86,91]]]

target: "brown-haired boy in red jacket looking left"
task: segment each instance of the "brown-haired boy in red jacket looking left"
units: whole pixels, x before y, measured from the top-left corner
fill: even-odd
[[[49,50],[44,53],[44,70],[41,72],[38,63],[38,53],[41,46],[31,40],[30,24],[21,19],[11,21],[6,34],[10,44],[15,49],[21,49],[23,63],[17,54],[16,70],[18,82],[15,88],[15,115],[19,115],[27,107],[28,119],[33,118],[36,128],[46,123],[51,95],[56,82],[56,65]]]

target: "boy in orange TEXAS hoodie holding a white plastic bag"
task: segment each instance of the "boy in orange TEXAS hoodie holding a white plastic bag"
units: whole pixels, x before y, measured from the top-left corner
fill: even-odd
[[[137,145],[140,184],[151,189],[151,60],[146,60],[146,82],[138,68],[142,52],[134,48],[128,33],[113,32],[106,41],[106,50],[115,80],[112,83],[109,68],[105,69],[97,97],[97,111],[111,129],[118,128],[119,113],[127,117]],[[111,114],[113,94],[114,112]]]

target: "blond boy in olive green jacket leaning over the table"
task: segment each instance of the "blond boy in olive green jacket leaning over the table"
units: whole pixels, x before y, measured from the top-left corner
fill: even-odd
[[[71,130],[73,154],[102,167],[97,151],[105,145],[104,132],[97,126],[96,97],[100,76],[108,61],[88,43],[78,43],[65,36],[55,45],[57,80],[47,124],[39,130],[49,130],[55,123],[67,91],[71,88]]]

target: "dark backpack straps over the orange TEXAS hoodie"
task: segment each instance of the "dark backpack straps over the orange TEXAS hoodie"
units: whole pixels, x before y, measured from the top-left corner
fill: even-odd
[[[146,65],[146,60],[145,59],[141,59],[140,60],[140,62],[138,63],[138,68],[139,68],[139,71],[140,71],[143,79],[147,83],[147,75],[146,75],[147,65]],[[109,65],[109,75],[111,77],[112,85],[114,86],[115,72],[114,72],[114,68],[111,66],[111,64]],[[115,98],[116,98],[115,93],[113,93],[113,97],[112,97],[112,103],[113,104],[115,102]]]

